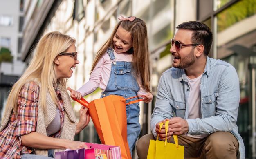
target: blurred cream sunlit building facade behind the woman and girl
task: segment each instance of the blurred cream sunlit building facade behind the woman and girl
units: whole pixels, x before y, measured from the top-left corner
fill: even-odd
[[[75,14],[73,12],[75,3],[81,5],[81,2],[83,2],[84,17],[72,17]],[[163,48],[169,47],[166,44],[170,43],[174,35],[175,24],[196,19],[196,0],[191,0],[189,5],[186,3],[186,0],[179,0],[176,4],[175,0],[63,0],[47,25],[44,34],[50,31],[61,31],[76,38],[76,49],[80,63],[68,80],[68,86],[78,89],[89,80],[94,57],[103,43],[110,37],[118,22],[117,16],[123,14],[124,16],[134,15],[141,18],[146,22],[148,29],[149,47],[152,52],[151,63],[153,64],[151,68],[153,69],[152,86],[156,90],[161,73],[171,67],[171,54],[168,53],[167,56],[163,56],[164,58],[161,57],[162,59],[160,56],[162,56]],[[81,13],[79,10],[81,6],[76,9],[77,14]],[[184,14],[187,16],[182,16]],[[97,89],[94,93],[86,96],[86,99],[88,101],[97,99],[100,92]],[[154,95],[156,95],[156,91],[154,91]],[[79,111],[79,108],[80,105],[74,103],[76,112]],[[147,105],[141,102],[141,134],[150,132],[151,109],[153,109],[152,103]],[[80,133],[79,139],[99,142],[92,123]]]

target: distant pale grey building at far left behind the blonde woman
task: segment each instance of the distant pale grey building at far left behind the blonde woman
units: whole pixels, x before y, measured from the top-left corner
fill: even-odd
[[[0,119],[7,92],[25,69],[20,59],[23,1],[0,0]]]

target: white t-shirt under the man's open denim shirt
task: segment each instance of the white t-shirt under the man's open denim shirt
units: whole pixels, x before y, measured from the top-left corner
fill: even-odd
[[[201,81],[202,75],[198,76],[197,78],[190,79],[188,76],[186,76],[187,80],[189,81],[189,99],[188,99],[188,105],[189,105],[189,117],[188,119],[196,119],[196,118],[202,118],[201,115],[201,91],[200,91],[200,81]],[[204,138],[207,137],[207,134],[203,135],[190,135],[187,134],[189,137],[193,138]]]

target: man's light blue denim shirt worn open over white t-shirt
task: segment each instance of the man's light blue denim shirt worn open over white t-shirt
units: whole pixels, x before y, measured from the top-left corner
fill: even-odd
[[[162,74],[151,116],[151,131],[154,136],[157,136],[155,125],[175,114],[186,119],[189,124],[188,134],[191,135],[231,132],[238,140],[240,159],[244,159],[245,147],[236,125],[240,101],[236,69],[222,60],[207,57],[200,81],[202,119],[188,119],[189,90],[184,69],[173,67]]]

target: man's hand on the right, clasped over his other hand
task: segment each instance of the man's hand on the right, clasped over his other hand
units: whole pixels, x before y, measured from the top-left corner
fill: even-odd
[[[185,119],[173,117],[169,119],[169,128],[171,128],[173,134],[181,135],[189,131],[189,124]]]

